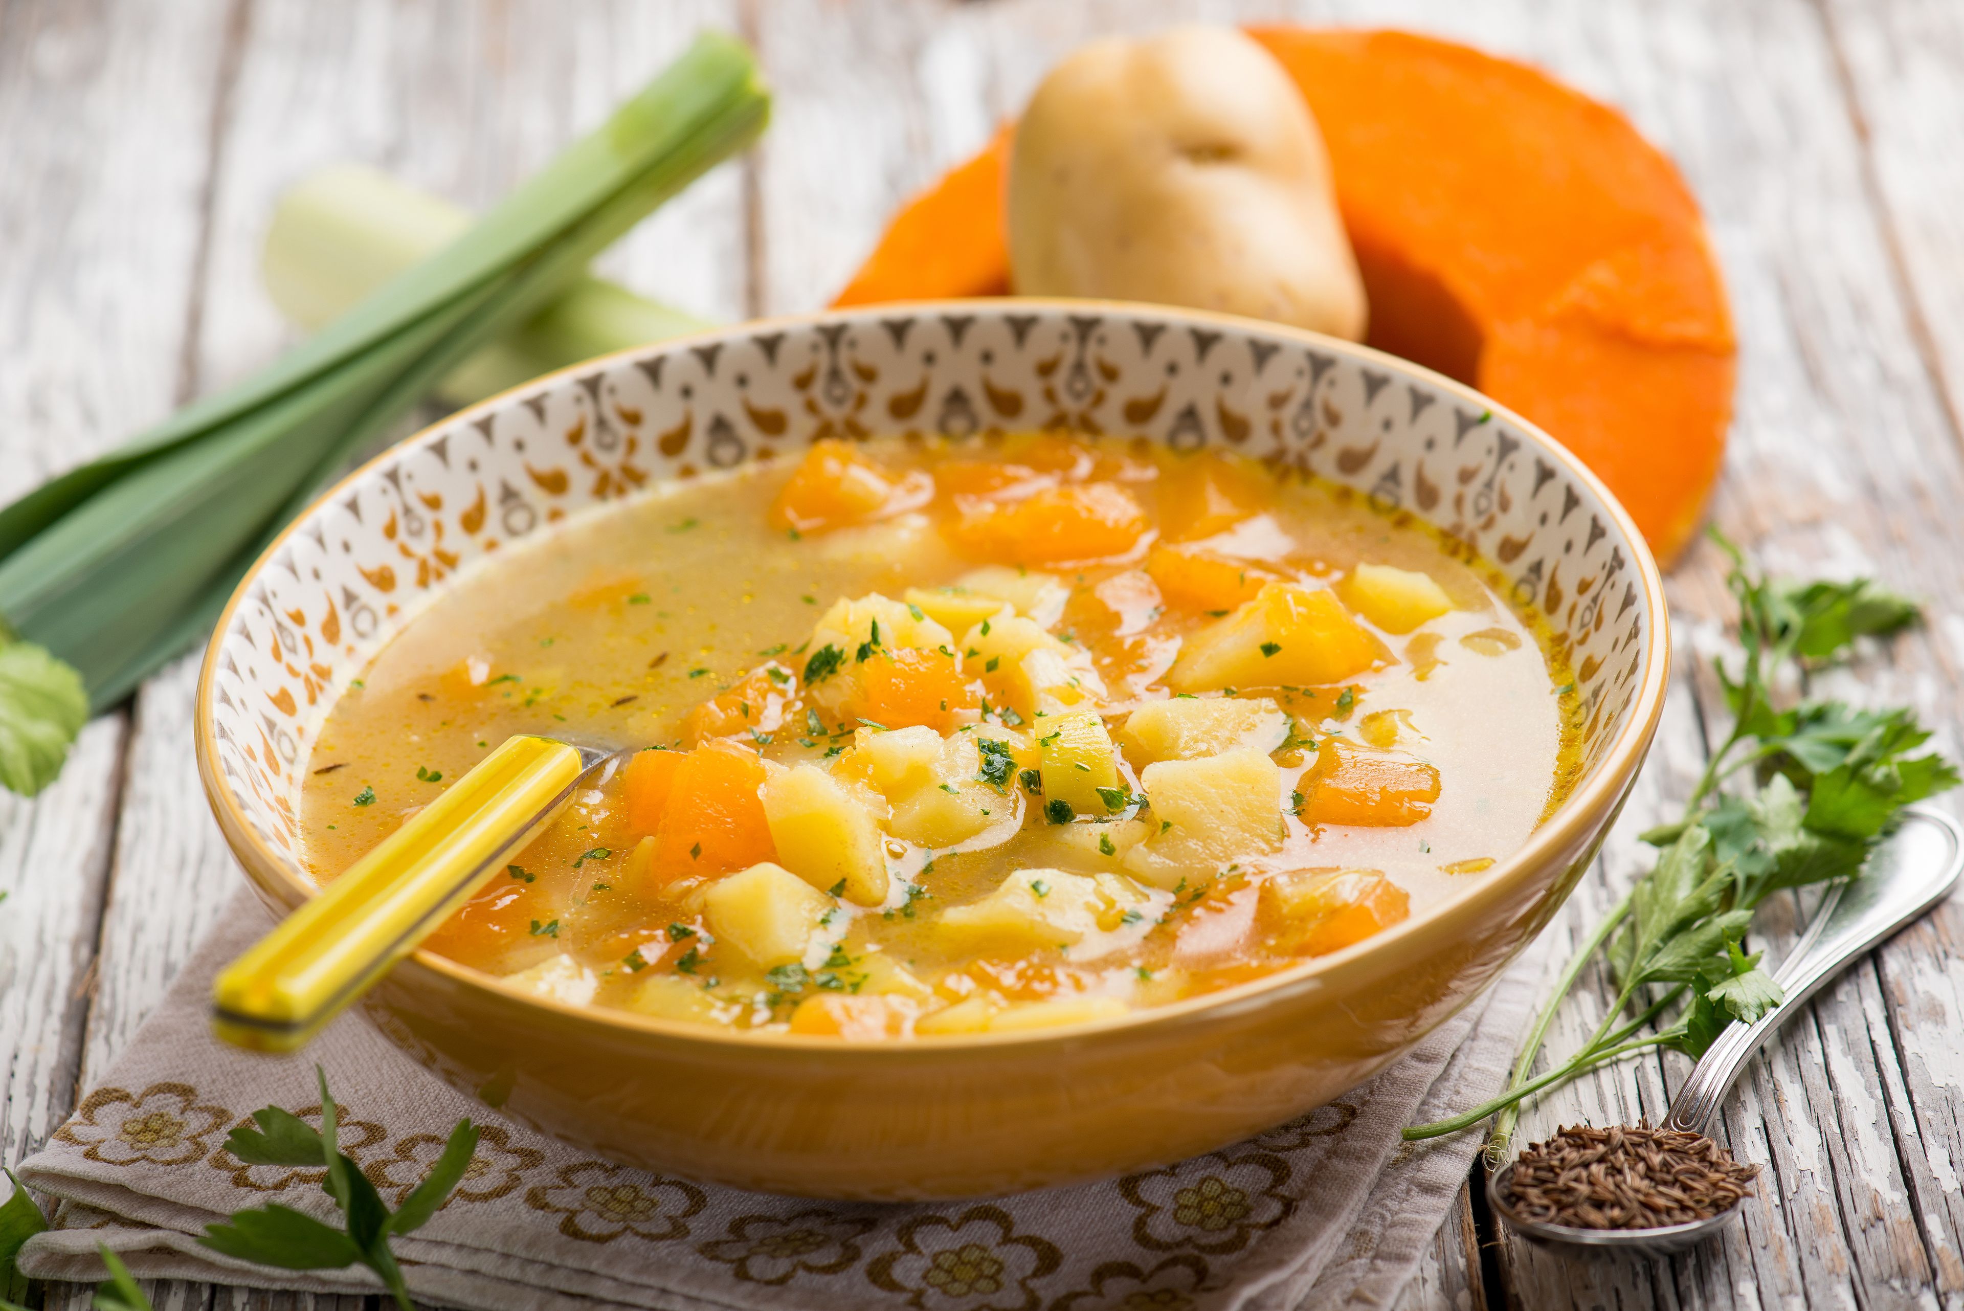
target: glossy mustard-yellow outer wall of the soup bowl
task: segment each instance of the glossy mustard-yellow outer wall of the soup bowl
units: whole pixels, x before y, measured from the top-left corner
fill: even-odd
[[[1173,324],[1251,326],[1153,313]],[[1485,403],[1416,366],[1383,364]],[[1601,489],[1555,442],[1538,454]],[[1648,619],[1628,721],[1524,851],[1446,906],[1355,947],[1118,1022],[911,1044],[742,1038],[562,1006],[426,951],[399,965],[363,1010],[448,1083],[544,1132],[658,1173],[770,1193],[1000,1195],[1182,1160],[1284,1122],[1357,1087],[1473,1000],[1548,924],[1622,808],[1658,725],[1669,645],[1656,564],[1628,517],[1601,497],[1634,556],[1634,603]],[[251,586],[247,576],[240,598]],[[246,822],[216,765],[216,660],[214,643],[200,682],[198,767],[253,888],[287,914],[310,886]]]

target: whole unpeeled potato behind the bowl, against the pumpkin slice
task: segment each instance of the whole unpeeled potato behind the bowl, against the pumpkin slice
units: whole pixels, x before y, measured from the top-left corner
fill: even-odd
[[[1231,28],[1096,41],[1043,79],[1015,130],[1009,265],[1019,295],[1365,330],[1316,120]]]

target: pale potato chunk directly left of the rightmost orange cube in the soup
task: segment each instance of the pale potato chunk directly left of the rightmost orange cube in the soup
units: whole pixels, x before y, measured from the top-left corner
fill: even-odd
[[[1161,761],[1139,782],[1161,826],[1125,855],[1125,873],[1141,883],[1173,888],[1282,849],[1282,770],[1261,751]]]

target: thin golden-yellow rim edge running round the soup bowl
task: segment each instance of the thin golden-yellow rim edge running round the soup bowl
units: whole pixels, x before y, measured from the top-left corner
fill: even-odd
[[[1671,639],[1669,639],[1669,605],[1664,596],[1664,576],[1658,570],[1658,562],[1650,552],[1650,544],[1638,531],[1636,521],[1630,511],[1622,507],[1622,501],[1603,484],[1601,478],[1589,466],[1585,466],[1567,446],[1555,440],[1540,425],[1530,423],[1514,409],[1500,405],[1493,397],[1469,387],[1453,377],[1428,370],[1420,364],[1404,360],[1402,356],[1392,356],[1373,346],[1363,346],[1361,342],[1345,342],[1341,338],[1326,336],[1322,332],[1310,332],[1306,328],[1292,328],[1288,324],[1269,322],[1263,318],[1245,318],[1241,314],[1220,314],[1214,311],[1184,309],[1173,305],[1153,305],[1145,301],[1096,301],[1096,299],[1063,299],[1063,297],[978,297],[978,299],[941,299],[941,301],[894,301],[880,305],[864,305],[852,309],[827,309],[811,311],[803,314],[778,314],[768,318],[750,318],[740,324],[731,324],[723,328],[711,328],[705,332],[691,332],[687,336],[672,336],[660,342],[646,342],[642,346],[628,346],[627,350],[609,352],[595,356],[591,360],[581,360],[570,364],[552,373],[542,373],[530,381],[517,387],[509,387],[493,397],[467,405],[460,411],[444,415],[436,423],[418,428],[410,436],[389,444],[373,458],[365,460],[361,466],[352,470],[346,478],[336,482],[332,487],[324,489],[304,511],[300,511],[293,523],[289,523],[281,533],[265,546],[251,568],[240,580],[232,598],[226,601],[224,613],[218,615],[218,623],[212,629],[212,641],[206,647],[204,662],[198,670],[198,698],[194,715],[194,743],[198,776],[204,784],[206,800],[212,806],[212,814],[218,820],[218,827],[224,831],[226,843],[238,857],[247,879],[259,884],[261,892],[275,892],[287,906],[299,906],[308,896],[316,892],[312,881],[308,881],[299,867],[281,857],[273,847],[257,833],[251,822],[246,818],[238,796],[226,784],[224,772],[218,767],[218,743],[216,743],[216,719],[212,713],[214,702],[214,680],[218,674],[218,662],[222,653],[222,635],[230,631],[232,617],[238,607],[247,599],[253,582],[259,578],[261,570],[279,554],[295,533],[299,533],[324,505],[336,501],[344,491],[350,491],[355,484],[369,478],[379,466],[395,460],[405,448],[432,438],[442,430],[450,430],[458,425],[477,421],[481,417],[503,411],[518,403],[520,395],[528,395],[536,389],[568,379],[573,373],[591,373],[597,368],[611,364],[627,364],[632,360],[644,360],[656,354],[674,354],[689,350],[697,344],[713,344],[725,340],[740,340],[754,336],[756,332],[768,330],[797,330],[813,328],[831,322],[874,322],[880,318],[917,318],[925,314],[949,314],[949,313],[990,313],[990,311],[1009,311],[1009,309],[1029,309],[1037,313],[1068,314],[1086,311],[1108,311],[1118,314],[1145,314],[1163,318],[1167,326],[1216,326],[1231,332],[1255,332],[1284,338],[1298,346],[1334,350],[1353,360],[1381,364],[1394,373],[1424,381],[1432,387],[1440,387],[1446,393],[1467,401],[1469,405],[1479,405],[1491,409],[1497,417],[1506,419],[1524,436],[1530,436],[1540,444],[1538,454],[1546,454],[1550,460],[1557,462],[1571,478],[1587,485],[1603,501],[1603,511],[1614,521],[1616,529],[1622,533],[1626,546],[1636,568],[1640,582],[1640,596],[1644,615],[1650,619],[1650,637],[1644,651],[1644,678],[1636,694],[1630,698],[1630,713],[1616,737],[1603,751],[1601,761],[1595,770],[1583,778],[1583,782],[1569,792],[1569,796],[1548,816],[1540,827],[1522,843],[1512,855],[1495,863],[1491,871],[1479,881],[1469,883],[1463,890],[1447,896],[1446,900],[1430,906],[1422,914],[1416,914],[1400,924],[1365,938],[1363,941],[1351,943],[1339,951],[1328,955],[1318,955],[1288,969],[1279,969],[1261,979],[1251,979],[1247,983],[1237,983],[1214,993],[1202,993],[1198,997],[1188,997],[1176,1002],[1165,1002],[1159,1006],[1147,1006],[1133,1010],[1127,1016],[1114,1016],[1106,1020],[1088,1020],[1082,1024],[1066,1024],[1047,1030],[1015,1032],[1015,1034],[951,1034],[945,1038],[935,1038],[933,1042],[886,1042],[886,1040],[845,1040],[845,1038],[825,1038],[809,1034],[754,1034],[754,1032],[733,1032],[719,1026],[687,1024],[682,1020],[660,1020],[654,1016],[634,1014],[630,1010],[619,1010],[611,1006],[573,1006],[568,1002],[558,1002],[530,995],[518,987],[503,983],[497,975],[487,975],[469,965],[462,965],[448,957],[436,955],[428,949],[418,949],[410,957],[405,957],[397,969],[410,965],[428,969],[440,975],[452,987],[475,991],[487,995],[487,1000],[517,1002],[522,1006],[532,1006],[548,1014],[556,1014],[568,1022],[575,1024],[597,1024],[617,1034],[644,1034],[654,1040],[674,1040],[680,1044],[711,1044],[717,1048],[740,1048],[740,1050],[764,1050],[764,1048],[793,1048],[807,1052],[862,1052],[862,1054],[886,1054],[890,1057],[907,1059],[929,1059],[937,1052],[951,1052],[956,1048],[976,1048],[976,1046],[1011,1046],[1011,1044],[1045,1044],[1045,1042],[1070,1042],[1082,1040],[1090,1032],[1112,1032],[1112,1030],[1137,1030],[1149,1024],[1173,1024],[1182,1018],[1204,1018],[1204,1012],[1245,1008],[1259,1004],[1261,1000],[1273,1000],[1277,995],[1294,993],[1302,987],[1316,987],[1316,979],[1341,971],[1345,965],[1369,955],[1369,953],[1389,953],[1396,945],[1428,930],[1455,910],[1461,910],[1477,900],[1493,900],[1508,894],[1520,884],[1528,875],[1548,861],[1557,859],[1559,851],[1575,841],[1575,837],[1595,824],[1605,810],[1614,810],[1634,780],[1644,755],[1650,751],[1650,743],[1656,735],[1658,723],[1664,715],[1664,694],[1669,684],[1671,672]],[[577,519],[577,517],[575,517]],[[1526,947],[1530,938],[1524,938],[1514,945],[1512,951]],[[1510,951],[1510,955],[1512,955]],[[1483,989],[1481,989],[1483,991]],[[1463,1004],[1477,997],[1479,991],[1469,993],[1459,998]]]

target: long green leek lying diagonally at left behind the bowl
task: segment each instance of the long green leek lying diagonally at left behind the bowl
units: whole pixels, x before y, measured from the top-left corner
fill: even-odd
[[[0,509],[0,617],[92,710],[210,629],[271,535],[440,377],[538,314],[662,200],[748,145],[770,98],[705,33],[499,206],[253,377]],[[0,765],[24,698],[0,682]],[[45,757],[45,753],[41,753]],[[33,792],[53,770],[0,770]]]

